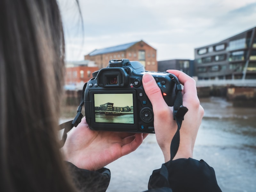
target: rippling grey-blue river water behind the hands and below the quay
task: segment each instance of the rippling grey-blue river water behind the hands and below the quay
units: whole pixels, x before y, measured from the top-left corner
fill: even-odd
[[[256,109],[234,108],[222,98],[201,99],[205,115],[194,148],[195,159],[204,159],[215,170],[223,192],[256,191]],[[107,192],[147,189],[149,176],[164,157],[150,134],[131,154],[106,166],[111,170]]]

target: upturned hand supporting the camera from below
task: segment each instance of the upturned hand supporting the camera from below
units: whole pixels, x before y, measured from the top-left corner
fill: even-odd
[[[68,132],[64,159],[79,168],[98,170],[140,146],[148,134],[92,131],[85,118]]]

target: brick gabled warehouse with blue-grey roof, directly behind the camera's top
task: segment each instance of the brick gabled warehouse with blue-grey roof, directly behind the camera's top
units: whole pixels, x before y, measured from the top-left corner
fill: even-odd
[[[142,40],[94,50],[84,59],[94,61],[99,68],[107,67],[111,59],[129,59],[139,61],[147,71],[157,71],[156,49]]]

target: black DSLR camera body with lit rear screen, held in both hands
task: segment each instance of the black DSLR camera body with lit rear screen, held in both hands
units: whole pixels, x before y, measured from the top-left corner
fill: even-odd
[[[145,73],[155,78],[167,105],[174,105],[176,76],[145,71],[138,61],[110,60],[107,68],[93,73],[85,88],[84,108],[90,129],[155,133],[152,104],[142,85]]]

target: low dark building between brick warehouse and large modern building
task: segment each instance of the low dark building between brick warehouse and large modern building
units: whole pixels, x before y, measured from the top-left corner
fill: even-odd
[[[194,60],[186,59],[173,59],[173,60],[164,60],[157,61],[158,71],[164,72],[168,69],[176,69],[183,71],[189,76],[194,76]]]

